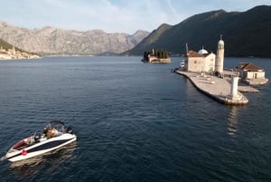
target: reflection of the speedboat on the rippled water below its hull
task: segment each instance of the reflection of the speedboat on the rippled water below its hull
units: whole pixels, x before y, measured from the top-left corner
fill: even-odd
[[[11,164],[9,169],[14,173],[14,175],[20,177],[35,176],[35,174],[42,171],[46,166],[51,166],[51,168],[47,168],[47,170],[52,171],[55,168],[60,167],[62,163],[72,158],[75,148],[77,148],[77,142],[72,142],[68,146],[53,150],[44,155],[14,162]]]

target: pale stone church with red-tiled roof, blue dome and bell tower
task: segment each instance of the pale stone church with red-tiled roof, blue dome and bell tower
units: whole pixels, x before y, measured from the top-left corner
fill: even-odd
[[[208,53],[205,49],[199,52],[189,51],[185,57],[184,69],[187,72],[219,72],[223,73],[224,41],[220,35],[217,55]]]

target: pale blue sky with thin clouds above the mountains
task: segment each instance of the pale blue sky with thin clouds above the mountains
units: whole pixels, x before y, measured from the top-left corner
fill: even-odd
[[[0,21],[15,26],[135,34],[213,10],[245,12],[271,0],[0,0],[0,5]]]

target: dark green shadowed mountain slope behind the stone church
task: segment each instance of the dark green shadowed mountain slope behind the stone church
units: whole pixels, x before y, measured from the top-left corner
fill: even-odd
[[[220,34],[225,42],[226,56],[271,57],[271,6],[259,5],[246,12],[224,10],[195,14],[180,24],[162,24],[126,54],[143,55],[145,51],[166,49],[185,53],[204,46],[216,53]]]

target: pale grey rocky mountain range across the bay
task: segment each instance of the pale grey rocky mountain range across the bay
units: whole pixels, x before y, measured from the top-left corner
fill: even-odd
[[[0,22],[0,38],[25,51],[40,54],[123,53],[132,49],[149,33],[107,34],[102,30],[79,32],[51,26],[26,29]]]

